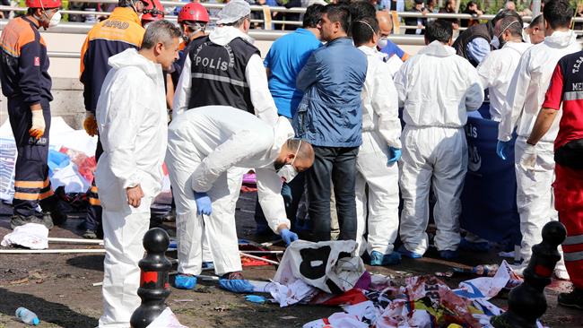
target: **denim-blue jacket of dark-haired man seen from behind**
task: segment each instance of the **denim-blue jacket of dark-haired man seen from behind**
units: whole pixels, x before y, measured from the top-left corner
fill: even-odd
[[[293,117],[298,137],[315,146],[360,146],[366,72],[366,55],[352,39],[335,39],[314,51],[296,80],[304,91]]]

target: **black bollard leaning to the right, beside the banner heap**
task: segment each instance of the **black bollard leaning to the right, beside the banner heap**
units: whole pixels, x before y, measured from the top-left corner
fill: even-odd
[[[494,327],[536,327],[536,320],[546,311],[544,287],[551,283],[554,266],[561,260],[557,246],[566,236],[567,230],[561,222],[551,221],[544,225],[543,241],[533,246],[533,255],[523,272],[525,281],[510,290],[509,309],[492,317],[490,323]]]

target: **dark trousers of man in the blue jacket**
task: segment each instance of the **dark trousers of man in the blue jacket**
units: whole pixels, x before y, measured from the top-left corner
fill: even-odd
[[[313,241],[330,240],[330,195],[332,184],[341,240],[356,239],[356,156],[359,147],[314,146],[316,159],[307,171],[309,219]]]

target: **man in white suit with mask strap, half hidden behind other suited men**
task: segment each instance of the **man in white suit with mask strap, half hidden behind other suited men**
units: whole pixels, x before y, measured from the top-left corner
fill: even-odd
[[[490,92],[491,119],[500,122],[500,110],[506,100],[512,75],[516,71],[520,56],[532,45],[522,42],[522,21],[515,16],[508,16],[496,22],[494,38],[490,44],[498,50],[488,54],[477,69],[483,87]]]

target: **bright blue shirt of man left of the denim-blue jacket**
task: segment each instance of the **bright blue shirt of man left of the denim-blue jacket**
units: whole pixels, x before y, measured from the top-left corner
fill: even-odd
[[[296,88],[296,78],[314,50],[322,43],[305,29],[295,30],[275,40],[264,59],[269,68],[269,91],[274,97],[277,112],[292,118],[300,104],[303,92]]]

